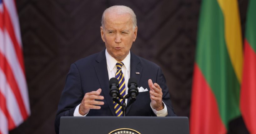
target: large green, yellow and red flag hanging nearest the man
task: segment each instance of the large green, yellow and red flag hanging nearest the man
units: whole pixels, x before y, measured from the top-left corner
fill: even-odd
[[[239,109],[243,49],[237,0],[202,0],[191,96],[191,134],[224,134]]]

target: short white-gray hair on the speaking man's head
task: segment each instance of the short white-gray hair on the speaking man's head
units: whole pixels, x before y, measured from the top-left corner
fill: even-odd
[[[136,15],[133,12],[133,9],[131,9],[130,7],[127,6],[121,6],[121,5],[116,5],[116,6],[112,6],[112,7],[108,7],[102,14],[102,19],[101,19],[101,26],[104,27],[104,21],[105,21],[105,14],[106,12],[115,12],[117,14],[130,14],[131,18],[132,18],[132,22],[133,22],[133,29],[135,27],[137,27],[137,19],[136,19]]]

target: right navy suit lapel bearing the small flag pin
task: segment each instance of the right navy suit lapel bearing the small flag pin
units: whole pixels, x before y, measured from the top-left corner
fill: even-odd
[[[140,65],[140,60],[139,58],[131,52],[131,71],[130,71],[130,77],[134,77],[137,79],[137,84],[139,85],[140,82],[140,77],[142,73],[142,67]],[[127,104],[130,102],[130,98],[127,101]],[[131,109],[132,105],[130,105],[126,109],[126,113],[128,114],[129,110]]]

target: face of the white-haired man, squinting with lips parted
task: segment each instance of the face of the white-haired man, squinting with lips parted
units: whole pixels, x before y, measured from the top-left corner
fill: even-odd
[[[129,14],[106,13],[104,28],[101,27],[101,38],[105,42],[107,52],[117,61],[122,61],[137,37],[137,30],[138,27],[133,28]]]

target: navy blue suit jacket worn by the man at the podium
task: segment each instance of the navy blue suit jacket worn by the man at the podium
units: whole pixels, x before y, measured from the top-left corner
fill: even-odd
[[[149,90],[149,79],[160,85],[163,92],[163,102],[168,111],[167,116],[176,116],[171,106],[165,77],[160,67],[131,52],[130,69],[130,77],[138,80],[138,87]],[[139,74],[135,72],[139,72]],[[56,133],[59,132],[60,117],[73,116],[76,106],[81,103],[85,93],[96,91],[99,88],[102,89],[100,95],[104,96],[104,105],[99,110],[91,109],[87,116],[116,116],[113,101],[109,95],[105,50],[78,60],[71,65],[58,105],[55,119]],[[155,116],[150,107],[150,102],[149,92],[139,92],[136,101],[127,108],[127,116]]]

